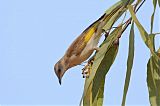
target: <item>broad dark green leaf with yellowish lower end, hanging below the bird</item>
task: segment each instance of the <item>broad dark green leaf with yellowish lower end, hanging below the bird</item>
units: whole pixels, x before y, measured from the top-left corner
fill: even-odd
[[[105,76],[113,64],[117,52],[118,45],[112,45],[111,48],[106,52],[96,71],[95,77],[89,86],[87,95],[84,96],[83,106],[103,106]]]

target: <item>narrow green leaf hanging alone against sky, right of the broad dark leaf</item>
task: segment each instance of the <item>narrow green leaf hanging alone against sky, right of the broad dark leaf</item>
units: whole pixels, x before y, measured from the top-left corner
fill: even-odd
[[[134,23],[132,23],[131,30],[130,30],[130,37],[129,37],[129,53],[128,53],[128,60],[127,60],[127,72],[126,72],[126,79],[125,79],[125,86],[123,91],[123,100],[122,106],[125,106],[127,91],[129,87],[131,71],[133,66],[133,59],[134,59]]]

